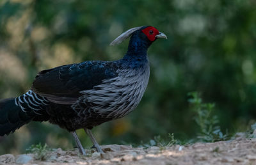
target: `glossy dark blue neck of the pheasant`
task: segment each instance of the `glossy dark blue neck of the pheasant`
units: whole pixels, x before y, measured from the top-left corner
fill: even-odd
[[[138,36],[132,36],[128,51],[122,61],[128,67],[140,67],[148,63],[147,50],[150,43],[141,40]]]

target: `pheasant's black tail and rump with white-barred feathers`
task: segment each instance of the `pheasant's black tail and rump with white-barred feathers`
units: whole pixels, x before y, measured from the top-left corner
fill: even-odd
[[[28,91],[17,98],[0,100],[0,136],[14,132],[31,120],[47,120],[45,105],[45,100],[33,91]]]

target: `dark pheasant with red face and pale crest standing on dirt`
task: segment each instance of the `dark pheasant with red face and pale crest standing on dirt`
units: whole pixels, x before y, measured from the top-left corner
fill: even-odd
[[[74,136],[79,152],[86,152],[76,130],[84,129],[97,152],[104,153],[93,127],[122,118],[138,106],[150,75],[147,50],[165,38],[153,26],[131,28],[110,45],[130,38],[128,50],[116,61],[84,61],[39,72],[28,92],[0,100],[0,136],[31,121],[50,122]]]

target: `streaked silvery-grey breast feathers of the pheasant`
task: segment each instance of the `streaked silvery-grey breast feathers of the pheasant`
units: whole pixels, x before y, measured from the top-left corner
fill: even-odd
[[[90,107],[104,118],[121,118],[140,103],[149,78],[149,65],[137,68],[120,68],[118,76],[106,79],[93,90],[86,90],[84,102],[93,103]]]

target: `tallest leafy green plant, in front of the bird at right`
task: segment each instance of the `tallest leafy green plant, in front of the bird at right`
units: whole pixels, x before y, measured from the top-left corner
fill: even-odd
[[[188,102],[196,113],[195,122],[200,129],[197,138],[204,142],[226,140],[227,133],[221,132],[218,117],[212,114],[215,104],[203,103],[197,92],[190,92],[188,96],[191,97]]]

